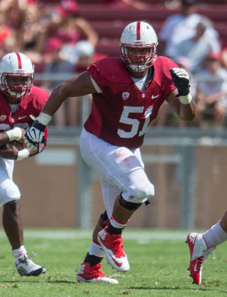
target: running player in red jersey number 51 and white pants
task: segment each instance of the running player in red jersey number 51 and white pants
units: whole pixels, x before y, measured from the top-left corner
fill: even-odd
[[[120,39],[121,58],[100,59],[56,87],[25,134],[28,148],[42,144],[45,127],[62,102],[92,94],[91,114],[81,134],[80,148],[84,160],[100,176],[106,211],[77,272],[82,282],[118,283],[102,273],[104,256],[118,271],[130,268],[122,230],[136,209],[154,196],[139,148],[162,103],[166,100],[182,120],[191,121],[195,116],[188,73],[171,59],[157,57],[157,45],[150,24],[136,21],[127,25]]]

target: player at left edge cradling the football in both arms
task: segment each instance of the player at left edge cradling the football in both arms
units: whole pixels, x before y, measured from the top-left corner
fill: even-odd
[[[40,114],[48,93],[34,83],[34,66],[20,52],[11,52],[0,60],[0,205],[3,204],[2,225],[12,247],[15,264],[21,276],[40,275],[45,268],[27,255],[23,243],[23,226],[19,203],[20,191],[12,179],[14,160],[23,160],[45,147],[47,130],[41,146],[23,148],[25,129]],[[19,144],[18,144],[19,142]],[[21,143],[21,144],[20,144]],[[25,145],[24,145],[25,146]]]

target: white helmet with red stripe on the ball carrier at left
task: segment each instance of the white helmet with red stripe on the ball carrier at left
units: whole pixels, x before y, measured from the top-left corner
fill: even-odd
[[[9,76],[27,78],[26,84],[9,86]],[[31,93],[34,82],[34,65],[21,52],[10,52],[0,59],[0,89],[2,93],[16,99],[22,99]]]

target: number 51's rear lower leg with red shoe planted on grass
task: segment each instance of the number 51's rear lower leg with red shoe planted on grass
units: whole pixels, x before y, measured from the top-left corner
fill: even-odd
[[[101,271],[101,260],[105,256],[103,249],[97,242],[97,234],[105,228],[109,222],[106,211],[100,215],[92,234],[92,244],[84,262],[77,271],[79,282],[118,284],[118,281],[110,278]]]

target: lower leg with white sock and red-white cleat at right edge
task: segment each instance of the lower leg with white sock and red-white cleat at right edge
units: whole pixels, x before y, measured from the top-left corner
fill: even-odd
[[[216,246],[227,241],[227,212],[217,224],[203,234],[189,233],[186,239],[190,250],[188,270],[193,283],[200,285],[202,281],[203,262]]]

